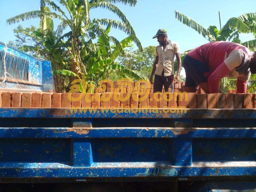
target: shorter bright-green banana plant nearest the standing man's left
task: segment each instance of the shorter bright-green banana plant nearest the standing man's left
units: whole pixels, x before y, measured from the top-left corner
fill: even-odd
[[[127,69],[124,66],[115,62],[118,57],[131,57],[134,59],[145,60],[145,58],[125,50],[126,47],[132,47],[134,36],[129,36],[122,41],[118,41],[113,36],[109,36],[111,24],[105,30],[101,29],[101,34],[98,37],[96,44],[97,50],[93,57],[87,59],[86,81],[99,82],[100,79],[109,79],[109,73],[115,71],[122,78],[136,77],[137,79],[147,79],[135,70]],[[110,43],[113,42],[113,45]]]

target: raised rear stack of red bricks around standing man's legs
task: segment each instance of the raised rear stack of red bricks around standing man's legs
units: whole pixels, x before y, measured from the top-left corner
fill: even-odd
[[[130,93],[133,92],[134,87],[137,85],[137,88],[140,89],[141,92],[146,92],[147,89],[150,89],[149,92],[153,93],[153,87],[154,84],[151,84],[151,87],[147,86],[147,83],[140,83],[138,85],[137,81],[134,82],[129,82],[129,81],[113,81],[113,85],[114,87],[111,88],[109,83],[104,83],[102,86],[102,88],[94,88],[94,93],[105,93],[105,92],[111,92],[111,93]],[[144,85],[144,87],[142,88],[142,85]],[[185,91],[184,89],[185,86],[185,82],[178,82],[174,84],[174,92],[178,92],[178,91]],[[162,93],[164,93],[164,86],[162,89]]]

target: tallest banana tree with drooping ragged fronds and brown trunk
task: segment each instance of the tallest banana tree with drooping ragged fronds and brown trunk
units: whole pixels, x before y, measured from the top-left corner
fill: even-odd
[[[27,12],[24,14],[17,15],[13,18],[7,20],[8,24],[17,23],[23,20],[28,20],[32,18],[41,18],[42,26],[44,26],[44,19],[46,16],[51,16],[53,18],[59,18],[61,23],[57,28],[57,36],[62,40],[67,39],[67,42],[70,42],[70,51],[73,55],[71,60],[71,70],[78,74],[80,77],[85,77],[87,75],[86,64],[83,63],[80,57],[81,48],[85,44],[90,44],[91,38],[95,38],[99,33],[98,25],[109,23],[112,24],[112,27],[119,28],[120,30],[125,31],[129,35],[135,36],[134,41],[136,45],[142,49],[141,42],[135,35],[135,32],[129,23],[126,16],[122,11],[112,3],[123,3],[125,5],[135,6],[136,0],[59,0],[59,2],[66,8],[63,11],[58,5],[50,0],[41,0],[40,1],[40,10]],[[45,5],[49,5],[52,9],[57,11],[57,13],[49,12],[45,10]],[[90,9],[93,8],[105,8],[110,12],[116,14],[122,22],[110,19],[90,19]],[[66,14],[67,13],[67,14]],[[66,34],[63,34],[63,31],[69,27],[70,31]],[[42,34],[44,27],[42,27]],[[44,36],[44,34],[43,34]],[[88,38],[86,42],[84,39]],[[86,48],[83,49],[85,52]],[[87,53],[88,54],[88,53]]]

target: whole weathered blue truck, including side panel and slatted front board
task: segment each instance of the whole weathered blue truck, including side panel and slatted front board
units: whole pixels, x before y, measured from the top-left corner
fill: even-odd
[[[54,91],[49,61],[4,43],[0,78],[0,91]],[[255,122],[254,109],[0,108],[0,189],[256,191]]]

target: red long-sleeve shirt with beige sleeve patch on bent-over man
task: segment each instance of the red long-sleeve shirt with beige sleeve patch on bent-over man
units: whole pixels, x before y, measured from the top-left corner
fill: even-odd
[[[233,42],[215,41],[195,48],[188,55],[208,65],[211,93],[219,92],[219,80],[223,77],[237,77],[237,93],[246,92],[251,75],[249,62],[253,55],[247,47]]]

